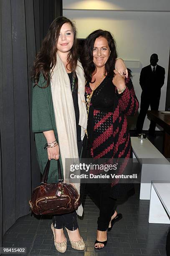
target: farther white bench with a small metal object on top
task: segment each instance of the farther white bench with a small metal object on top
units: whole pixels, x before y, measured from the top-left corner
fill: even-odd
[[[141,164],[140,199],[150,200],[152,180],[170,180],[170,162],[146,138],[131,137],[133,158]]]

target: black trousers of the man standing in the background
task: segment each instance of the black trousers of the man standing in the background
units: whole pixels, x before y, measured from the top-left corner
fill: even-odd
[[[144,124],[149,106],[151,110],[158,110],[159,104],[160,104],[160,93],[158,93],[157,95],[154,95],[153,93],[151,97],[148,97],[148,95],[146,95],[146,92],[145,93],[142,92],[141,103],[140,103],[140,113],[137,118],[137,124],[136,124],[137,133],[142,133],[143,124]],[[155,133],[155,127],[156,127],[156,123],[151,120],[150,128],[149,128],[150,134]]]

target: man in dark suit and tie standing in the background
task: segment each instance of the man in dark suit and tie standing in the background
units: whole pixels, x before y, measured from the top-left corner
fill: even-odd
[[[142,68],[140,73],[140,86],[142,88],[140,114],[137,118],[136,132],[142,133],[143,123],[150,106],[151,110],[158,110],[160,104],[161,87],[164,84],[165,69],[157,65],[158,56],[150,56],[150,65]],[[149,136],[155,136],[156,123],[151,120]]]

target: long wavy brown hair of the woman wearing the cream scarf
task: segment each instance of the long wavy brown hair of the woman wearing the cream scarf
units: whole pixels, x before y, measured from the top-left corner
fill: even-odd
[[[48,87],[51,80],[52,75],[52,69],[55,67],[57,62],[57,42],[58,42],[58,36],[61,30],[61,27],[64,23],[69,23],[71,25],[71,28],[74,33],[74,44],[67,56],[68,64],[70,65],[71,72],[73,72],[75,77],[75,83],[77,85],[78,79],[76,76],[76,66],[77,66],[77,32],[76,27],[71,20],[69,20],[66,17],[58,17],[51,23],[51,26],[48,30],[47,35],[43,39],[41,49],[36,55],[36,59],[33,64],[32,69],[32,81],[35,83],[34,86],[38,85],[40,74],[43,74],[43,77],[46,81],[46,85],[42,88]],[[67,64],[67,66],[68,66]]]

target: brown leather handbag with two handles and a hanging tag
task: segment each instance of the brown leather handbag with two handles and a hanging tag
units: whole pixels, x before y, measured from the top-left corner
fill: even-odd
[[[29,201],[31,210],[36,215],[56,215],[77,210],[80,195],[77,189],[61,179],[61,166],[58,162],[58,183],[47,183],[50,161],[48,160],[43,172],[42,182],[33,190]]]

